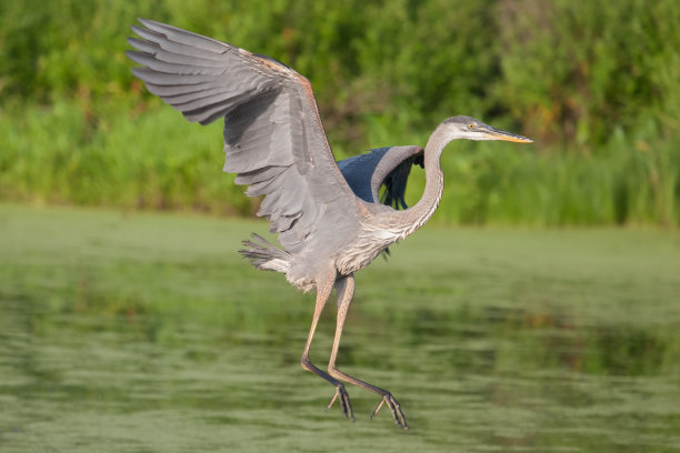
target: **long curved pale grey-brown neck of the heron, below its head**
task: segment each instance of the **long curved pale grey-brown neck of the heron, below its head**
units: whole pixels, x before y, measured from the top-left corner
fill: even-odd
[[[441,125],[434,130],[424,149],[426,189],[422,197],[410,209],[399,211],[399,222],[402,223],[406,234],[422,226],[437,210],[443,193],[443,172],[441,171],[441,153],[451,141]]]

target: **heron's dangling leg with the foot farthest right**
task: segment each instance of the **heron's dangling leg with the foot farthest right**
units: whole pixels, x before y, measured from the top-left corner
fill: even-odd
[[[401,412],[401,407],[399,406],[399,402],[392,396],[390,392],[384,389],[377,387],[376,385],[371,385],[368,382],[363,382],[358,380],[357,378],[352,378],[348,374],[344,374],[336,366],[336,359],[338,358],[338,349],[340,348],[340,336],[342,335],[342,328],[344,326],[344,319],[347,318],[347,313],[349,312],[350,304],[352,303],[352,298],[354,296],[354,276],[352,274],[347,275],[344,278],[340,278],[336,281],[336,292],[338,293],[338,323],[336,326],[336,338],[333,340],[333,349],[331,351],[330,361],[328,362],[328,373],[337,379],[349,382],[354,385],[359,385],[366,390],[370,390],[371,392],[378,393],[382,396],[380,404],[371,414],[371,419],[376,416],[380,407],[383,404],[387,404],[392,412],[392,419],[394,419],[394,423],[398,426],[403,427],[404,430],[409,429],[407,424],[406,416],[403,412]],[[336,399],[331,401],[333,403]]]

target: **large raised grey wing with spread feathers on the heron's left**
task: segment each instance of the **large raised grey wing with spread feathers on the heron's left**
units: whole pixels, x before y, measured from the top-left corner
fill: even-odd
[[[224,171],[264,195],[258,215],[287,250],[313,232],[331,204],[357,205],[321,124],[309,81],[264,56],[176,27],[142,20],[126,54],[134,76],[189,121],[224,117]],[[348,205],[344,205],[347,209]]]

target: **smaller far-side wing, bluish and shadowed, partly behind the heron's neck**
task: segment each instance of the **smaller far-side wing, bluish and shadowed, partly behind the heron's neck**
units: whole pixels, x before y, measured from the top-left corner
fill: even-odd
[[[338,168],[357,197],[369,203],[407,209],[403,199],[411,167],[422,167],[422,148],[389,147],[370,150],[338,162]],[[386,190],[380,200],[380,187]]]

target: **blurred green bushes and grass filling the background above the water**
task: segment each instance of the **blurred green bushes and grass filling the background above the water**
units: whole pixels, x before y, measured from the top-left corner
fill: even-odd
[[[132,78],[137,17],[307,76],[338,159],[424,144],[453,114],[536,140],[452,145],[441,221],[680,223],[674,0],[1,2],[0,199],[254,211],[220,172],[221,124]]]

